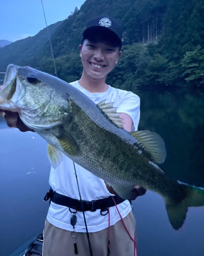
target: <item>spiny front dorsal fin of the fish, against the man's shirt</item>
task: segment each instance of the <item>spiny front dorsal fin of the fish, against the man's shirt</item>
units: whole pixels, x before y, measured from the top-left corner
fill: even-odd
[[[113,107],[113,103],[106,103],[106,100],[97,104],[98,108],[102,110],[117,126],[123,128],[123,122],[120,118],[120,113],[117,113],[117,108]]]

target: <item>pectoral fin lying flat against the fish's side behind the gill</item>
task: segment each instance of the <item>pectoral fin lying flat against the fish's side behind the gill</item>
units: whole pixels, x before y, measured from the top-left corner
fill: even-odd
[[[67,153],[69,156],[77,156],[80,153],[80,146],[78,145],[77,141],[68,134],[66,131],[62,130],[60,136],[56,136],[58,142],[60,143],[61,147],[63,148],[64,152]]]

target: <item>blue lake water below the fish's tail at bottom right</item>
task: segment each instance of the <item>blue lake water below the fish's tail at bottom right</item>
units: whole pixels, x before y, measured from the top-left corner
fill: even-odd
[[[179,231],[172,229],[163,199],[148,191],[134,203],[139,256],[202,256],[204,207],[189,208]]]

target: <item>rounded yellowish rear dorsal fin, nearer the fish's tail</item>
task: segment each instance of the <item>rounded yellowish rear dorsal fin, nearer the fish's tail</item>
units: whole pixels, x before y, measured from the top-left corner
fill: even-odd
[[[155,162],[163,163],[165,161],[165,143],[159,134],[149,131],[135,131],[131,135],[145,147]]]

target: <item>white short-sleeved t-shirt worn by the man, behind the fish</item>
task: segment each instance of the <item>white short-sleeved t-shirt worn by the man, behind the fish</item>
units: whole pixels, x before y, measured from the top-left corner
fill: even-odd
[[[114,102],[114,107],[117,108],[117,112],[123,112],[130,115],[133,119],[135,130],[138,129],[140,119],[140,98],[136,94],[115,89],[111,86],[109,86],[106,92],[90,93],[82,88],[78,81],[71,82],[70,84],[86,94],[96,104],[103,100],[106,100],[106,103]],[[91,201],[113,196],[106,188],[104,180],[96,177],[76,163],[75,168],[78,175],[82,200]],[[80,199],[73,161],[65,155],[60,166],[56,169],[51,167],[49,184],[54,191],[61,195],[78,200]],[[131,205],[128,200],[118,204],[117,207],[122,218],[131,211]],[[97,209],[96,211],[85,211],[85,217],[89,232],[100,231],[108,227],[108,215],[102,216],[100,214],[100,209]],[[51,202],[47,214],[48,222],[56,227],[72,231],[73,227],[70,224],[70,218],[71,212],[68,207]],[[114,225],[119,220],[120,216],[118,215],[116,207],[110,207],[110,224]],[[81,211],[77,212],[75,231],[86,232],[83,212]]]

